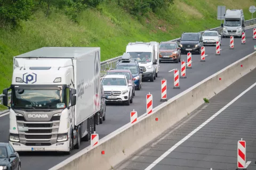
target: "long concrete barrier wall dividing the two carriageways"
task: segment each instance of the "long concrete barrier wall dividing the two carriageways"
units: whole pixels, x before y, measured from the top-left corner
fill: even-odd
[[[243,66],[241,67],[241,65]],[[193,112],[204,103],[203,98],[209,99],[213,97],[255,67],[256,52],[174,96],[154,108],[152,114],[141,116],[137,123],[133,125],[127,124],[107,137],[102,138],[99,141],[99,146],[95,148],[87,147],[51,168],[51,170],[111,169],[111,166],[114,167],[122,162],[142,146],[158,137],[166,129]],[[155,121],[156,117],[158,121]],[[101,154],[102,150],[105,151],[105,155]]]

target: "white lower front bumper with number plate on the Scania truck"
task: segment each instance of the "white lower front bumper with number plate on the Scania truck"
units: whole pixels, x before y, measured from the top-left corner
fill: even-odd
[[[69,151],[69,141],[58,142],[51,146],[26,146],[12,141],[9,143],[15,151]]]

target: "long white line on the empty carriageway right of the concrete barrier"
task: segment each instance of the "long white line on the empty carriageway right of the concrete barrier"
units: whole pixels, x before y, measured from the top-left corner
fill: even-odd
[[[247,88],[246,90],[244,90],[240,95],[238,95],[236,98],[234,98],[233,100],[231,100],[226,106],[222,107],[217,113],[215,113],[214,115],[212,115],[208,120],[206,120],[204,123],[202,123],[201,125],[199,125],[194,131],[190,132],[185,138],[181,139],[178,143],[176,143],[173,147],[171,147],[169,150],[167,150],[166,152],[164,152],[163,155],[161,155],[159,158],[157,158],[152,164],[150,164],[145,170],[150,170],[152,169],[154,166],[156,166],[159,162],[161,162],[161,160],[163,160],[167,155],[169,155],[174,149],[176,149],[178,146],[180,146],[183,142],[185,142],[187,139],[189,139],[193,134],[195,134],[198,130],[200,130],[201,128],[203,128],[207,123],[211,122],[213,120],[213,118],[215,118],[216,116],[218,116],[222,111],[225,111],[226,108],[228,108],[230,105],[232,105],[237,99],[239,99],[240,97],[242,97],[247,91],[251,90],[254,86],[256,86],[256,82],[254,84],[252,84],[252,86],[250,86],[249,88]]]

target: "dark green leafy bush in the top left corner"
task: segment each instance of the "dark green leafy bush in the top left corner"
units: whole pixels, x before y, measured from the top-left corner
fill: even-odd
[[[0,0],[0,27],[9,23],[14,27],[20,20],[27,20],[33,6],[33,0]]]

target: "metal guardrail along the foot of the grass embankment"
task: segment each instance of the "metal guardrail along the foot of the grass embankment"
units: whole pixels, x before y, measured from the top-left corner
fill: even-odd
[[[250,26],[253,24],[256,24],[256,18],[245,21],[245,26]],[[222,31],[222,27],[211,28],[209,30],[210,31],[212,31],[212,30]],[[204,30],[204,31],[209,31],[209,30]],[[200,33],[204,33],[204,31],[201,31]],[[170,41],[177,41],[179,39],[180,39],[180,37],[170,40]],[[111,58],[109,60],[101,62],[100,63],[100,77],[103,77],[110,68],[114,68],[116,66],[117,61],[120,58],[121,58],[121,56],[118,56],[118,57]],[[2,104],[3,96],[4,96],[3,94],[0,95],[0,104]],[[8,97],[11,97],[11,92],[8,93]]]

